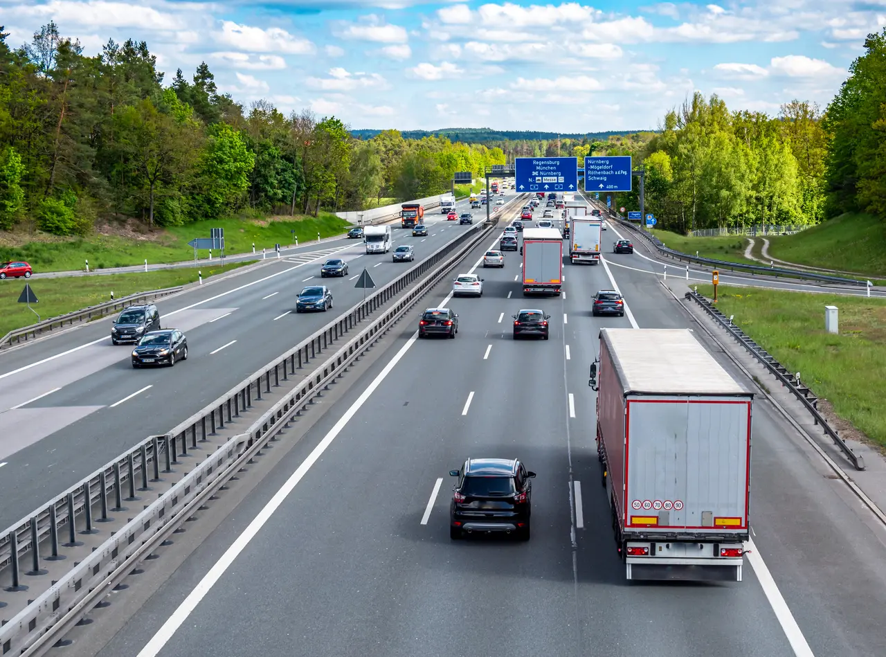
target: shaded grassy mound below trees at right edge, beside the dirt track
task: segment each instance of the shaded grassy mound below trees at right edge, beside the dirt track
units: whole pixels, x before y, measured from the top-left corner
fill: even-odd
[[[886,223],[871,215],[840,215],[796,235],[766,239],[769,254],[785,262],[886,277]]]

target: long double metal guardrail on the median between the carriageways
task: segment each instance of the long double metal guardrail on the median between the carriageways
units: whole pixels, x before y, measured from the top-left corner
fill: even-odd
[[[0,654],[11,650],[16,654],[24,653],[29,646],[40,641],[60,618],[75,608],[81,608],[84,598],[97,591],[98,583],[107,580],[121,566],[125,566],[127,559],[136,552],[140,553],[140,548],[150,542],[151,536],[163,524],[179,518],[181,511],[199,497],[201,491],[210,487],[212,481],[221,481],[219,478],[223,473],[236,473],[240,463],[238,458],[252,453],[251,448],[254,450],[260,440],[270,439],[271,432],[278,431],[276,427],[281,426],[283,418],[291,417],[297,412],[297,408],[303,408],[332,379],[340,376],[369,344],[377,340],[381,332],[386,331],[424,293],[445,277],[448,270],[455,267],[480,240],[486,239],[496,223],[498,219],[495,217],[489,223],[478,223],[315,332],[284,356],[253,373],[202,411],[175,426],[171,432],[146,438],[133,450],[114,459],[49,504],[29,513],[18,524],[6,529],[0,535],[0,568],[12,566],[12,587],[6,591],[15,594],[19,584],[19,562],[22,559],[27,560],[30,557],[34,564],[33,572],[39,574],[41,551],[47,551],[48,547],[51,552],[51,556],[43,559],[59,557],[59,533],[64,534],[66,531],[69,534],[71,540],[68,544],[80,544],[76,540],[78,519],[82,519],[81,524],[85,522],[86,531],[89,531],[93,518],[98,517],[101,520],[109,511],[120,509],[121,500],[127,492],[130,499],[137,499],[138,480],[141,480],[141,489],[149,489],[149,476],[153,471],[152,481],[159,481],[161,459],[166,465],[163,472],[170,472],[176,458],[186,455],[189,446],[191,450],[198,448],[200,442],[206,442],[207,434],[214,434],[226,421],[231,422],[237,418],[241,410],[245,411],[252,406],[253,399],[260,400],[262,390],[269,393],[272,379],[275,387],[285,385],[291,376],[323,354],[324,350],[353,332],[375,311],[417,282],[392,308],[385,310],[382,317],[378,317],[339,348],[325,363],[302,379],[297,387],[292,388],[284,400],[263,414],[248,435],[238,435],[237,440],[231,440],[220,450],[216,450],[188,473],[183,481],[147,506],[136,518],[129,520],[125,528],[115,532],[104,544],[95,548],[89,557],[75,563],[66,576],[52,583],[47,591],[29,599],[27,606],[19,614],[0,627]],[[230,465],[232,460],[234,464]],[[115,508],[109,509],[109,497],[116,500]],[[43,548],[41,544],[44,544]],[[60,558],[64,559],[64,555],[60,555]],[[18,595],[30,597],[33,594],[19,592]],[[0,606],[3,606],[2,601]]]

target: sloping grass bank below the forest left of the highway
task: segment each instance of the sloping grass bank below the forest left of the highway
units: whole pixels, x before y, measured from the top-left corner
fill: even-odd
[[[95,234],[82,239],[62,239],[41,236],[25,241],[19,236],[0,233],[0,260],[25,260],[35,271],[68,271],[84,269],[89,260],[90,269],[126,267],[144,263],[184,262],[194,257],[188,242],[194,238],[208,238],[211,228],[223,228],[226,254],[242,254],[262,248],[273,249],[279,243],[287,246],[292,237],[305,243],[345,232],[351,224],[336,215],[321,213],[318,217],[290,217],[272,219],[219,219],[189,223],[185,226],[144,233],[129,230],[125,234]],[[289,220],[289,221],[287,221]],[[113,232],[113,231],[112,231]],[[24,243],[22,243],[24,241]],[[199,256],[206,257],[201,251]],[[214,254],[215,255],[215,254]]]

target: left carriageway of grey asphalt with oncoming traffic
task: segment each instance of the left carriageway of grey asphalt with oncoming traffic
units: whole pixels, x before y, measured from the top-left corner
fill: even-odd
[[[456,207],[470,209],[467,201]],[[473,214],[478,223],[486,208]],[[392,250],[413,244],[418,262],[470,228],[439,211],[425,220],[427,238],[393,225]],[[134,371],[131,347],[111,344],[111,318],[0,356],[0,527],[145,437],[166,433],[354,306],[363,295],[354,284],[364,267],[381,287],[411,266],[392,262],[391,253],[365,254],[357,239],[320,246],[319,258],[287,256],[158,301],[161,325],[188,337],[188,360],[175,368]],[[329,255],[349,263],[347,278],[320,278]],[[312,284],[330,286],[333,309],[297,315],[295,297]]]

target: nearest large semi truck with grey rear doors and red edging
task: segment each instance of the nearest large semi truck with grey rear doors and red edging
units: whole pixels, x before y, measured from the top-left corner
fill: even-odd
[[[626,578],[741,582],[753,393],[688,329],[599,337],[588,385]]]

